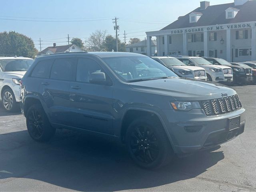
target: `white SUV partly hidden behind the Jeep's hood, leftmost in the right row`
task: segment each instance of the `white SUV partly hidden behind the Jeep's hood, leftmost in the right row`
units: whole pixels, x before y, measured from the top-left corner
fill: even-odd
[[[186,66],[180,60],[169,56],[152,58],[182,77],[206,80],[206,72],[202,67]]]

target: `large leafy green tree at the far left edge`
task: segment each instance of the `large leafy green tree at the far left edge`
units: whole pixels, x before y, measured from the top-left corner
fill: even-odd
[[[0,54],[35,58],[38,51],[33,40],[15,31],[0,33]]]

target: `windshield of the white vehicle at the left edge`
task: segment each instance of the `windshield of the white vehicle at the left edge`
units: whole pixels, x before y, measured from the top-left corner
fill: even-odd
[[[3,72],[27,71],[34,60],[32,59],[6,59],[0,60],[0,68]]]

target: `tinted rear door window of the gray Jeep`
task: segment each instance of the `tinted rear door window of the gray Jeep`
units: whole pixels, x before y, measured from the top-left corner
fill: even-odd
[[[72,72],[75,68],[74,58],[56,59],[52,65],[51,79],[55,80],[72,80]]]

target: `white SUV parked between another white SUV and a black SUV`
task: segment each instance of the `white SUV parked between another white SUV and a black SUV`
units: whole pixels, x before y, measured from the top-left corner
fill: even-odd
[[[178,60],[188,66],[200,66],[206,70],[208,81],[231,84],[233,82],[232,68],[228,66],[213,65],[201,57],[179,56]]]

